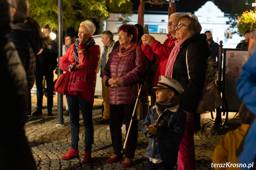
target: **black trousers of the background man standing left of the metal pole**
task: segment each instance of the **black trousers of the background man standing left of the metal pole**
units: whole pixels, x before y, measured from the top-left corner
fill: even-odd
[[[45,76],[47,84],[47,109],[52,112],[53,107],[53,70],[36,69],[36,97],[37,110],[42,111],[43,108],[43,79]]]

